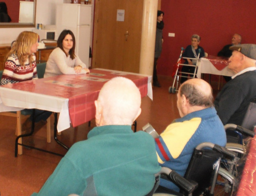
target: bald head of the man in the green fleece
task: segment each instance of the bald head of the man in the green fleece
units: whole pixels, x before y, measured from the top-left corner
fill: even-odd
[[[116,77],[104,84],[96,105],[96,124],[131,125],[140,115],[140,90],[133,81]]]

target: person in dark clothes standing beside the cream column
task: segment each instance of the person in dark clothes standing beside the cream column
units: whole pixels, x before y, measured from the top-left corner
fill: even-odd
[[[163,15],[164,13],[157,10],[157,32],[156,32],[156,43],[155,43],[155,54],[154,54],[154,71],[153,71],[153,86],[161,87],[157,78],[157,60],[162,52],[163,44]]]

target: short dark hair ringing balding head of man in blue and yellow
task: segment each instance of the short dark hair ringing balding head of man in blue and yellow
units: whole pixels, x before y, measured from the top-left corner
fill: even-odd
[[[209,95],[201,91],[195,84],[185,83],[180,86],[180,96],[185,95],[191,106],[213,107],[212,87]]]

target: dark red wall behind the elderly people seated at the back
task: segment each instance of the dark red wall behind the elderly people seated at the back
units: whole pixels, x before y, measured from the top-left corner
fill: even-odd
[[[208,55],[217,55],[234,33],[242,36],[242,43],[256,43],[256,0],[161,0],[161,10],[165,26],[159,75],[172,75],[181,47],[191,44],[193,34],[201,36],[199,45]]]

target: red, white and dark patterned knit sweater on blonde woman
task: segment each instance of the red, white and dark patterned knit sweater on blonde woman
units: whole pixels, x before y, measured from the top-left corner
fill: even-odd
[[[37,79],[35,55],[33,54],[33,63],[32,66],[29,65],[29,59],[26,60],[25,66],[20,65],[20,61],[17,58],[16,54],[12,54],[7,59],[3,76],[1,79],[0,85],[9,84],[9,83],[18,83],[22,81],[28,81],[32,79]]]

